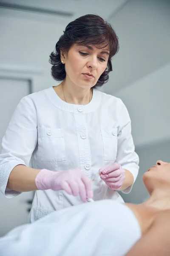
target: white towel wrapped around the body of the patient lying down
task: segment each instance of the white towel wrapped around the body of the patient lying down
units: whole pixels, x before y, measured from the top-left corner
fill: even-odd
[[[53,212],[0,239],[0,256],[125,256],[141,238],[133,212],[113,200]]]

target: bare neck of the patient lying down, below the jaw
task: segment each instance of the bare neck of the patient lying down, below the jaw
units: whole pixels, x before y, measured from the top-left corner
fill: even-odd
[[[170,209],[170,189],[155,189],[150,198],[143,203],[153,211],[160,212]]]

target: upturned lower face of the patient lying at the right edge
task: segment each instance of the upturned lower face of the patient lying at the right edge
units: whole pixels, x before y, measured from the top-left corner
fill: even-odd
[[[170,163],[157,161],[155,166],[144,173],[142,179],[150,194],[153,189],[170,187]]]

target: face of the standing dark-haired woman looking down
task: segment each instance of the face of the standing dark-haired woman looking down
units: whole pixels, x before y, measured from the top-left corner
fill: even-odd
[[[61,52],[61,60],[65,63],[66,80],[78,87],[93,87],[105,71],[108,57],[108,49],[73,44],[67,53]]]

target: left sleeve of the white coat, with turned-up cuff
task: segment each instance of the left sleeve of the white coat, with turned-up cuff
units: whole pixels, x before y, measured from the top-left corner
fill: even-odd
[[[7,198],[20,192],[6,188],[9,175],[17,165],[29,166],[37,145],[37,113],[30,96],[21,99],[2,140],[0,154],[0,192]]]

